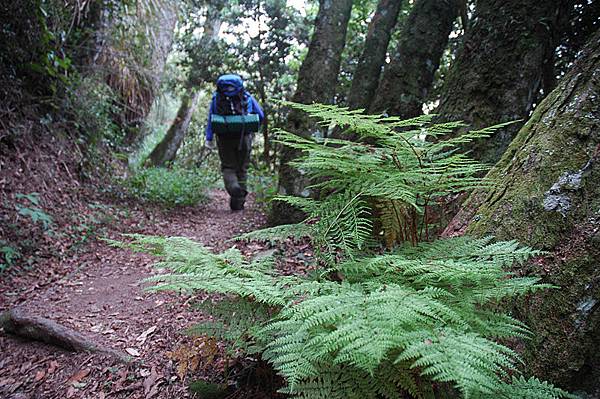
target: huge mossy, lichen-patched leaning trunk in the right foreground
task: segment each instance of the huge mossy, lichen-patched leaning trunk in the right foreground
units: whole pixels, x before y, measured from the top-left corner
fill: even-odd
[[[600,397],[600,30],[474,192],[446,235],[494,235],[547,251],[516,269],[558,286],[517,305],[535,332],[531,371]],[[586,396],[587,397],[587,396]]]

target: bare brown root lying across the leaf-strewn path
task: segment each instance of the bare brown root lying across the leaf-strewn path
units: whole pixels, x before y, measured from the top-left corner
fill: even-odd
[[[131,357],[125,353],[98,345],[75,330],[43,317],[28,315],[17,308],[0,313],[0,328],[8,334],[45,342],[71,352],[95,352],[109,355],[122,363],[131,362]]]

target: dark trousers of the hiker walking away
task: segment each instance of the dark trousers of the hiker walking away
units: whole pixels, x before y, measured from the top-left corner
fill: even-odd
[[[250,165],[250,152],[252,151],[252,135],[245,134],[240,137],[224,138],[217,136],[217,147],[221,159],[221,173],[225,182],[225,189],[232,199],[243,206],[246,194],[246,176]]]

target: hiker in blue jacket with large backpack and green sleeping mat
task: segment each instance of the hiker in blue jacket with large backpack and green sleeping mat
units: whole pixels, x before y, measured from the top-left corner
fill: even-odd
[[[221,173],[233,211],[244,209],[252,139],[264,116],[258,102],[244,89],[240,76],[229,74],[217,79],[217,91],[208,110],[205,145],[219,150]]]

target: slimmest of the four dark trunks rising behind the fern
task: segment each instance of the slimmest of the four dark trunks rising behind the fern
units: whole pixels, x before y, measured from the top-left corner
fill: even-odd
[[[352,109],[369,108],[385,62],[392,29],[398,21],[402,0],[379,0],[369,24],[363,53],[352,77],[348,106]]]

